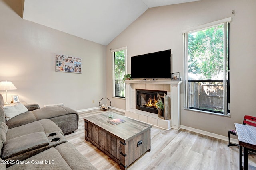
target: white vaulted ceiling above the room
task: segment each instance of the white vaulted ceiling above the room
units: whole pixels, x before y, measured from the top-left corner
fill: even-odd
[[[25,0],[23,19],[108,45],[148,8],[198,0]]]

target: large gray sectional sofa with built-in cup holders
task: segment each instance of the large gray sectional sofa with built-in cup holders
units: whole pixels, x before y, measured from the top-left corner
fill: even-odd
[[[10,118],[0,94],[0,170],[96,170],[64,137],[63,131],[70,133],[78,127],[76,111],[64,106],[32,106],[36,110],[30,106],[30,111]]]

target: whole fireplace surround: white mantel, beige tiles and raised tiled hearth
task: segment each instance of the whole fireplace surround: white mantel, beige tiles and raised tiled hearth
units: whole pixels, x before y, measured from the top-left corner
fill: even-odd
[[[164,129],[180,129],[180,84],[182,81],[167,80],[129,80],[126,83],[126,110],[125,116]],[[157,114],[135,109],[136,89],[163,90],[171,98],[171,119],[164,120]]]

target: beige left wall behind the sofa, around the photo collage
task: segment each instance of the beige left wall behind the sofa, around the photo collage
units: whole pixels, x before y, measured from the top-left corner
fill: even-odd
[[[40,107],[98,107],[106,96],[106,46],[23,20],[16,13],[20,0],[6,2],[0,0],[0,81],[18,88],[8,91],[8,101],[18,94]],[[82,58],[82,74],[55,72],[55,53]],[[5,98],[4,90],[0,93]]]

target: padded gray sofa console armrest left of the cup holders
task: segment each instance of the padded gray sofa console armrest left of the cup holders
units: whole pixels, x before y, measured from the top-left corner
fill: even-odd
[[[49,145],[44,132],[35,132],[10,139],[4,143],[2,159],[14,157]]]

